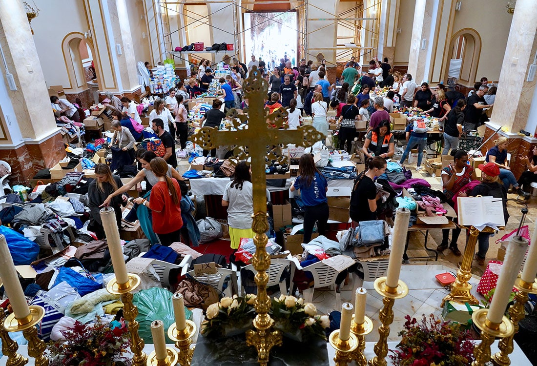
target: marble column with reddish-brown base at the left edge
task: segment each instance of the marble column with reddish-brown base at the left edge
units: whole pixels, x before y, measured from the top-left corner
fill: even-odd
[[[9,86],[7,72],[1,77],[0,159],[11,165],[15,184],[56,164],[65,152],[22,2],[0,1],[0,47],[14,84]]]

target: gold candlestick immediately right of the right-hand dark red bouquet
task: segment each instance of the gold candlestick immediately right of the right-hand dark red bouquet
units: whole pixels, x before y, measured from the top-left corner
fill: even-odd
[[[506,338],[514,334],[514,327],[507,317],[502,318],[502,323],[491,323],[487,319],[489,309],[478,309],[471,316],[474,324],[481,330],[481,343],[474,347],[474,362],[471,366],[485,366],[490,361],[490,346],[494,339]]]

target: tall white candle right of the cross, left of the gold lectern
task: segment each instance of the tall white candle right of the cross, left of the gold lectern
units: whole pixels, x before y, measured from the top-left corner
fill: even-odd
[[[409,219],[409,209],[397,209],[395,214],[394,235],[391,240],[390,261],[388,263],[388,272],[386,273],[386,286],[391,288],[396,288],[399,283],[404,246],[407,242]]]

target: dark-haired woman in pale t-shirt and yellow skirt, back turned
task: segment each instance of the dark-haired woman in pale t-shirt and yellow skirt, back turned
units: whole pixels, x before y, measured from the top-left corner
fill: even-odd
[[[235,166],[234,179],[224,189],[222,206],[228,207],[231,248],[237,249],[241,238],[253,238],[253,186],[250,166],[240,162]]]

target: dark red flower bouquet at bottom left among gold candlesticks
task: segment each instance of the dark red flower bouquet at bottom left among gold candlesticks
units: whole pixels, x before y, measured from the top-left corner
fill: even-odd
[[[126,326],[112,329],[97,317],[93,324],[76,321],[61,333],[65,342],[52,341],[47,346],[50,366],[130,365],[130,359],[122,357],[130,345]]]

